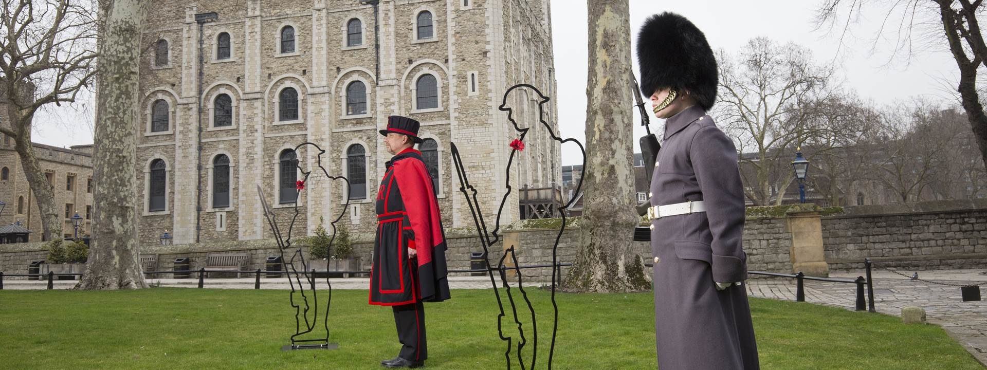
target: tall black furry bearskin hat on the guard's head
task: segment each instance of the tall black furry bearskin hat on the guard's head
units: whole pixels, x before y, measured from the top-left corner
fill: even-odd
[[[650,97],[661,88],[686,92],[705,111],[717,100],[717,59],[706,36],[675,13],[649,17],[638,34],[641,92]]]

